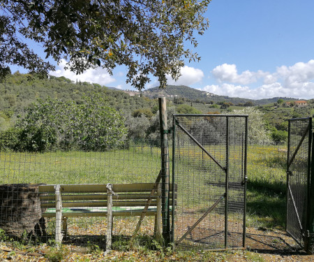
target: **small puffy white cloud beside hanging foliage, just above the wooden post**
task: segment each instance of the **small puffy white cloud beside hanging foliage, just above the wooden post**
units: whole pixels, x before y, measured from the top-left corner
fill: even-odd
[[[174,81],[170,75],[167,75],[168,85],[193,85],[196,82],[200,82],[204,78],[202,70],[184,66],[181,68],[181,76],[177,81]]]

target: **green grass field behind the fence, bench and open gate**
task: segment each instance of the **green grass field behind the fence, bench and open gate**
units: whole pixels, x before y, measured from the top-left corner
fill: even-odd
[[[181,150],[181,151],[180,151]],[[224,193],[221,187],[210,186],[224,182],[221,170],[200,149],[189,147],[177,152],[176,178],[179,190],[197,189],[193,199],[186,190],[178,192],[178,203],[193,206]],[[225,163],[224,148],[211,147],[213,156]],[[172,149],[170,148],[170,152]],[[248,147],[248,224],[283,226],[285,208],[285,147],[251,145]],[[171,161],[172,159],[170,159]],[[230,150],[230,177],[243,168],[241,149]],[[172,163],[170,163],[170,170]],[[0,152],[0,181],[10,183],[93,184],[154,182],[160,170],[160,149],[149,145],[133,145],[125,150],[108,152]],[[210,173],[208,172],[210,170]],[[194,186],[191,186],[194,185]],[[210,194],[205,194],[211,190]],[[232,190],[230,197],[232,198]],[[234,191],[237,197],[237,191]],[[274,208],[269,208],[269,205]],[[206,207],[204,207],[206,208]]]

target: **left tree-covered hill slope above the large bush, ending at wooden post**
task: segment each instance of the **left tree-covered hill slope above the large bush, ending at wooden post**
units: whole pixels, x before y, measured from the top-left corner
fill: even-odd
[[[14,73],[6,78],[6,83],[0,82],[0,112],[8,117],[20,114],[23,109],[36,99],[61,99],[80,103],[83,96],[95,92],[107,99],[107,103],[117,110],[133,112],[139,108],[157,110],[157,102],[130,96],[118,89],[109,89],[88,82],[71,82],[67,78],[50,77],[49,79],[29,79],[29,75]]]

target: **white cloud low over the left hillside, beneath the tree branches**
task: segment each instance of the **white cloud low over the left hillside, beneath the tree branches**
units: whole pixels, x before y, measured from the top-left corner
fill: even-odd
[[[99,85],[108,85],[116,81],[105,69],[100,67],[96,69],[88,69],[87,71],[84,71],[84,73],[77,75],[69,70],[65,70],[64,66],[66,66],[66,60],[62,59],[58,65],[59,69],[57,71],[50,71],[50,75],[57,77],[64,76],[75,82],[77,80],[81,82],[93,82]]]

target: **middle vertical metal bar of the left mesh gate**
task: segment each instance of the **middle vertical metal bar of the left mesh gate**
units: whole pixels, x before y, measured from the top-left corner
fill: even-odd
[[[228,200],[229,200],[229,117],[226,117],[225,142],[225,248],[228,245]]]

